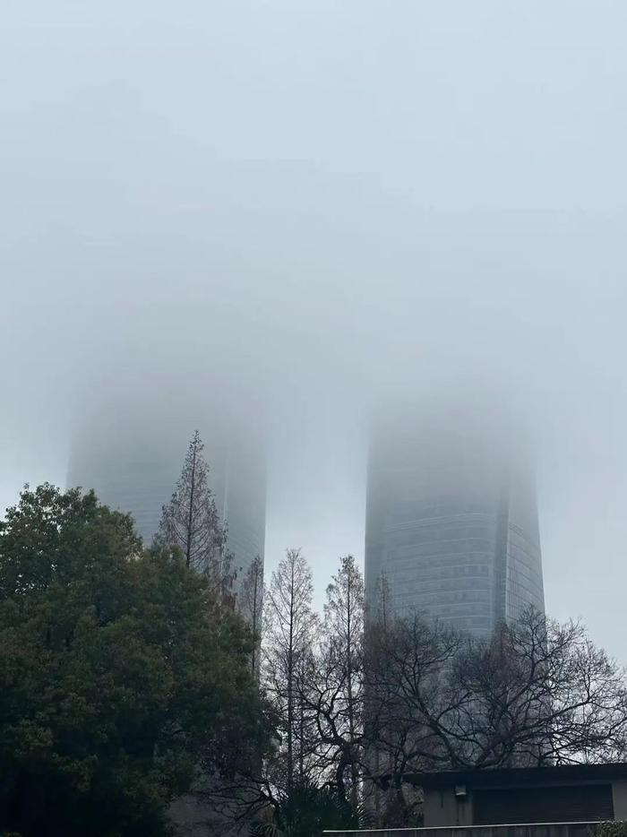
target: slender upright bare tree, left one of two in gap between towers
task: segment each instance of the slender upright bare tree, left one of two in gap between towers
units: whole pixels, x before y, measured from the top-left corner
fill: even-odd
[[[299,696],[299,677],[311,665],[316,620],[312,610],[314,585],[305,557],[299,549],[288,549],[272,574],[266,593],[266,643],[264,684],[275,704],[280,729],[285,737],[284,790],[289,795],[305,780],[305,760],[310,748],[310,727]]]

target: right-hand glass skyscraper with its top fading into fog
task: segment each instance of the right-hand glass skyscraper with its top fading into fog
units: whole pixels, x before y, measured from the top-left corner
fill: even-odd
[[[527,446],[511,422],[482,408],[437,401],[374,420],[365,526],[370,606],[384,578],[395,613],[475,636],[544,610]]]

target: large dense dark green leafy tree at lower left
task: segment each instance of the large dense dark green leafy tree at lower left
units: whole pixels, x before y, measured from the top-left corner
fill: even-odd
[[[171,549],[93,492],[25,490],[0,522],[0,831],[165,833],[229,729],[255,729],[251,637]]]

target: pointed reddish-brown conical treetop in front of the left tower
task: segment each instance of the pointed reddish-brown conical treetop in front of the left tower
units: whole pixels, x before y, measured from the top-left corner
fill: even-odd
[[[235,580],[232,557],[227,549],[227,528],[222,524],[209,485],[198,430],[194,431],[181,476],[170,502],[163,506],[158,541],[176,546],[185,565],[206,574],[223,598],[228,598]]]

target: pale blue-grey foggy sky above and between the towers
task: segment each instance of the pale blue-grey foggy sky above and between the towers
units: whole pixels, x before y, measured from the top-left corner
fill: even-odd
[[[534,440],[547,611],[627,663],[626,25],[5,2],[0,507],[64,484],[93,393],[190,433],[226,395],[269,425],[266,567],[302,547],[320,603],[363,557],[372,405],[490,384]]]

